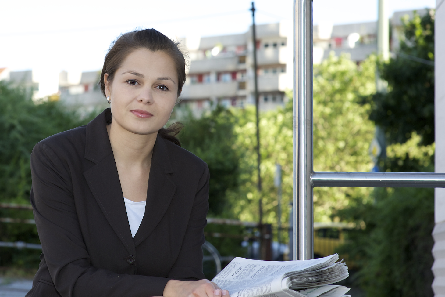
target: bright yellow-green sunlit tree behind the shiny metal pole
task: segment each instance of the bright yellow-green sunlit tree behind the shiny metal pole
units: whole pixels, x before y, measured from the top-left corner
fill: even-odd
[[[360,105],[362,96],[375,92],[374,56],[357,66],[347,55],[330,55],[314,66],[314,169],[316,171],[368,171],[368,155],[374,125],[368,120],[369,105]],[[291,98],[291,93],[287,94]],[[259,193],[256,189],[255,109],[234,111],[236,148],[240,158],[240,188],[229,192],[231,211],[246,221],[258,220]],[[261,114],[261,174],[263,180],[263,217],[277,222],[277,189],[273,179],[275,164],[282,165],[283,200],[281,222],[289,219],[292,202],[292,103]],[[351,197],[367,199],[368,188],[314,189],[315,220],[330,221],[333,209],[348,205]]]

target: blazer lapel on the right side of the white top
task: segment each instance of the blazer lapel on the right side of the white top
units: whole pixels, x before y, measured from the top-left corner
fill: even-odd
[[[145,214],[138,232],[134,235],[135,246],[142,243],[159,224],[176,191],[176,185],[170,178],[173,169],[165,141],[158,135],[154,144]]]

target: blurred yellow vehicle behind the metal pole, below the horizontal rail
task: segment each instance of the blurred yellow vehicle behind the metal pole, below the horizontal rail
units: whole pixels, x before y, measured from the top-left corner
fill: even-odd
[[[334,254],[335,249],[348,239],[348,230],[354,227],[354,223],[314,222],[314,258]]]

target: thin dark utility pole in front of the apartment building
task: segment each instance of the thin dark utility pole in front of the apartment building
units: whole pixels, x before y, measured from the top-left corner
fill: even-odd
[[[255,107],[256,107],[256,153],[258,156],[258,192],[259,192],[259,224],[263,224],[263,206],[261,199],[261,155],[259,153],[259,96],[258,96],[258,65],[256,62],[256,33],[255,33],[255,6],[252,2],[252,43],[253,43],[253,77],[255,84]]]

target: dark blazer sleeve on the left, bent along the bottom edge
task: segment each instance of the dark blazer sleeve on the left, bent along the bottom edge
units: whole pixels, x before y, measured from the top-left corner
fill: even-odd
[[[170,280],[168,278],[117,274],[90,264],[66,161],[40,142],[31,154],[31,172],[30,200],[42,252],[53,283],[62,297],[162,296]],[[194,218],[192,227],[202,224],[198,221],[202,219]],[[188,241],[187,245],[190,245]]]

